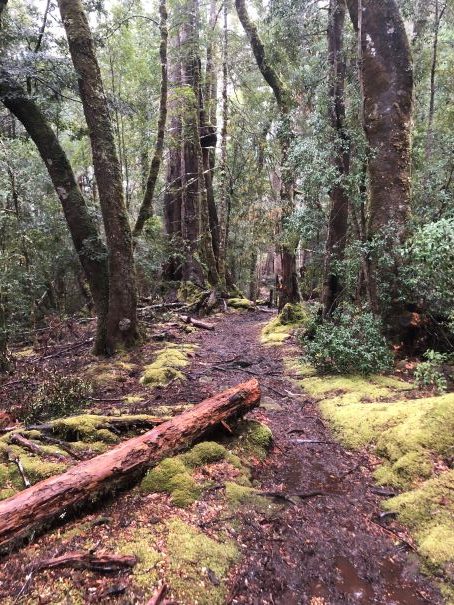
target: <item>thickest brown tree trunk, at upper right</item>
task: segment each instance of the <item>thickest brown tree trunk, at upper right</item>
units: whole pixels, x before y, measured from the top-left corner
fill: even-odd
[[[368,237],[385,250],[403,241],[410,212],[413,69],[395,0],[347,0],[360,44],[363,126],[368,160]],[[370,302],[379,311],[377,258],[371,259]]]

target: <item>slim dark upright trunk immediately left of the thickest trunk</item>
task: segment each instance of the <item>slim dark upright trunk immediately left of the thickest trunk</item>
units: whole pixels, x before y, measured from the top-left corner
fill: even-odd
[[[335,310],[342,286],[339,280],[339,263],[344,259],[348,227],[348,194],[343,177],[348,175],[350,149],[345,131],[345,57],[343,29],[345,0],[330,0],[328,24],[328,59],[330,64],[329,117],[334,138],[334,166],[336,183],[330,191],[331,208],[328,219],[328,236],[325,249],[323,311],[329,316]]]

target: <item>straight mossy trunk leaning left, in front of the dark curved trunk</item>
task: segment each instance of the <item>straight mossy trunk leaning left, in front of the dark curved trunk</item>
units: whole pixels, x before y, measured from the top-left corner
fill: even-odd
[[[138,338],[131,229],[112,122],[87,17],[81,0],[58,0],[58,5],[78,75],[106,232],[110,282],[107,347],[109,353],[114,353],[118,345],[132,346]]]

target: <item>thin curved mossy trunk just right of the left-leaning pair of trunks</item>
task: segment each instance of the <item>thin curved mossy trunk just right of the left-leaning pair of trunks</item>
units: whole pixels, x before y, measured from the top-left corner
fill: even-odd
[[[146,221],[153,214],[153,197],[154,190],[156,187],[156,181],[158,180],[159,169],[162,162],[162,154],[164,151],[164,136],[167,121],[167,8],[166,0],[160,0],[159,3],[159,14],[161,16],[159,29],[161,32],[161,44],[159,46],[159,57],[161,59],[161,97],[159,100],[159,119],[158,119],[158,133],[156,136],[156,145],[151,160],[150,173],[148,175],[145,195],[142,201],[142,205],[139,210],[136,224],[134,226],[133,236],[135,238],[143,231],[143,227]]]

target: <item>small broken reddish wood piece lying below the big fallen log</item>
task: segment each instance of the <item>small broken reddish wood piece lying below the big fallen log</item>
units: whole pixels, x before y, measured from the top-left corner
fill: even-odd
[[[137,557],[134,555],[95,555],[86,552],[69,552],[60,557],[40,561],[35,570],[73,567],[74,569],[90,569],[91,571],[112,573],[134,567],[136,563]]]

